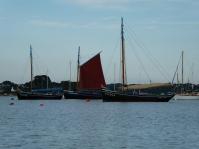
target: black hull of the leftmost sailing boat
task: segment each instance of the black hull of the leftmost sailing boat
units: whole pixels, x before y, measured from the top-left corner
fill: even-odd
[[[62,95],[17,93],[18,100],[61,100]]]

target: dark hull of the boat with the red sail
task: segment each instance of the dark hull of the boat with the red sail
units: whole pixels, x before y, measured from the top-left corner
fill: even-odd
[[[65,99],[102,99],[102,95],[100,94],[93,94],[93,93],[79,93],[79,92],[65,92],[64,93]]]

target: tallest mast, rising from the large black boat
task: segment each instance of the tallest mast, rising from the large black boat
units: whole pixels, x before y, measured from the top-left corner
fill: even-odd
[[[125,44],[124,44],[124,24],[123,18],[121,18],[121,65],[122,65],[122,91],[124,91],[124,86],[127,84],[126,79],[126,63],[125,63]]]

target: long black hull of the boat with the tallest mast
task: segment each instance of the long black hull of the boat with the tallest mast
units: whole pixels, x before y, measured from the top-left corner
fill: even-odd
[[[103,102],[168,102],[174,95],[128,95],[102,91]]]

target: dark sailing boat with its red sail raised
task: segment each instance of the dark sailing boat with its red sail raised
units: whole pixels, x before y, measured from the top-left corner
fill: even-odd
[[[65,91],[66,99],[102,99],[101,88],[106,86],[100,53],[80,65],[80,47],[77,61],[77,91]]]

